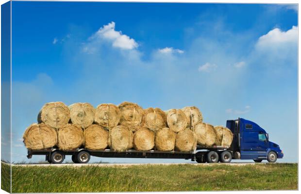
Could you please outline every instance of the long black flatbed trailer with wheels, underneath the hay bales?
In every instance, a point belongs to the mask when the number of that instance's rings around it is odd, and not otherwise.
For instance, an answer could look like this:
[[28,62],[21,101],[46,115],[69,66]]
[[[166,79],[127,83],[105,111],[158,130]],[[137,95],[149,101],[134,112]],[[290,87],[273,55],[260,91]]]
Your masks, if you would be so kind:
[[197,162],[206,162],[208,159],[205,157],[208,153],[210,159],[208,162],[218,162],[218,155],[221,152],[227,152],[228,159],[224,162],[230,162],[233,158],[233,152],[228,150],[227,146],[212,146],[202,147],[197,146],[195,151],[181,152],[181,151],[137,151],[134,149],[126,150],[124,152],[115,152],[111,149],[104,150],[90,150],[84,148],[78,148],[75,150],[61,151],[58,148],[50,148],[43,150],[28,150],[27,158],[31,159],[33,155],[45,155],[46,161],[50,163],[61,163],[67,155],[71,155],[71,159],[74,163],[87,163],[90,160],[90,156],[101,158],[149,158],[149,159],[191,159]]

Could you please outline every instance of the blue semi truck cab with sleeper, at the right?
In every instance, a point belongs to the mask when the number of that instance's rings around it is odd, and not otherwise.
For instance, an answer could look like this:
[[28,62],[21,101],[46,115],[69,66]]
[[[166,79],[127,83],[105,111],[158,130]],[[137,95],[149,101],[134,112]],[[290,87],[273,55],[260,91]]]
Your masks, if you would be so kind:
[[279,145],[269,141],[268,133],[258,124],[238,118],[228,120],[227,128],[233,133],[233,142],[229,149],[233,152],[234,159],[275,162],[283,158],[284,154]]

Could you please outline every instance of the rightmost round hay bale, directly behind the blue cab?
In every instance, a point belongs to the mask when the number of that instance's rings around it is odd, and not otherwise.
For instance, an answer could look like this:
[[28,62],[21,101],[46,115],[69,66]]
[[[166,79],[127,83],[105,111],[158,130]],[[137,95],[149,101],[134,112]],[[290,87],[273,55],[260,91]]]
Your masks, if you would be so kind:
[[215,126],[214,129],[217,134],[215,144],[221,146],[230,146],[233,140],[233,134],[231,130],[221,125]]

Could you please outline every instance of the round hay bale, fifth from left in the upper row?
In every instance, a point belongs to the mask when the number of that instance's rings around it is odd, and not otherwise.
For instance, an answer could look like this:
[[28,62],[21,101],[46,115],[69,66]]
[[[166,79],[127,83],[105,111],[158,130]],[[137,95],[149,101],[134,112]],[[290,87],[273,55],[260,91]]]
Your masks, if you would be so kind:
[[160,108],[147,108],[143,112],[142,123],[152,131],[158,131],[167,127],[166,113]]

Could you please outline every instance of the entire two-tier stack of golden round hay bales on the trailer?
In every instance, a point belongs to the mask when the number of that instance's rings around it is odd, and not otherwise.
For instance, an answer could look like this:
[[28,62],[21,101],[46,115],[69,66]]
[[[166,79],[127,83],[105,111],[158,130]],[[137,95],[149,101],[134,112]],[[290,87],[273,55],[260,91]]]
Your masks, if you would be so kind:
[[196,145],[230,146],[233,134],[223,126],[203,123],[196,106],[162,111],[160,108],[143,109],[123,102],[119,106],[89,103],[66,106],[62,102],[45,104],[23,135],[26,148],[31,150],[58,147],[74,150],[110,148],[116,152],[128,149],[138,151],[196,150]]

